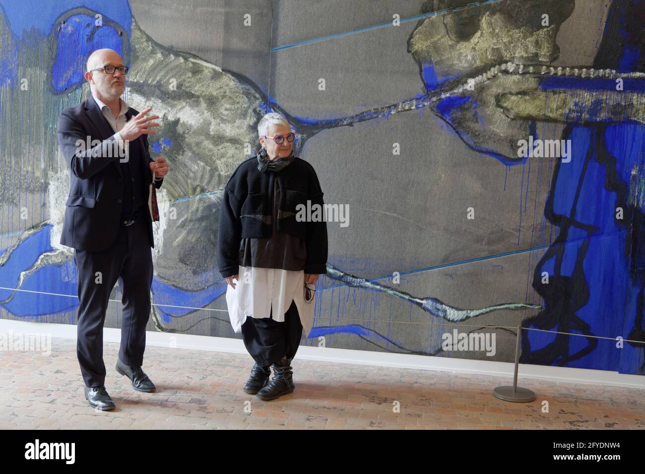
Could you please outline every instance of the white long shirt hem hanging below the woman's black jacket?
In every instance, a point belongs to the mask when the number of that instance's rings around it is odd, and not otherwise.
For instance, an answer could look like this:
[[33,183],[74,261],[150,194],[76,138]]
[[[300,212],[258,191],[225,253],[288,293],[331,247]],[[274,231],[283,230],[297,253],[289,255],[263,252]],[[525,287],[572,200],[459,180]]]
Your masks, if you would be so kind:
[[273,308],[273,319],[284,322],[284,313],[295,302],[303,324],[305,337],[313,326],[315,298],[304,298],[304,271],[293,272],[281,268],[239,266],[239,281],[235,288],[226,288],[228,317],[236,333],[242,331],[247,317],[268,318]]

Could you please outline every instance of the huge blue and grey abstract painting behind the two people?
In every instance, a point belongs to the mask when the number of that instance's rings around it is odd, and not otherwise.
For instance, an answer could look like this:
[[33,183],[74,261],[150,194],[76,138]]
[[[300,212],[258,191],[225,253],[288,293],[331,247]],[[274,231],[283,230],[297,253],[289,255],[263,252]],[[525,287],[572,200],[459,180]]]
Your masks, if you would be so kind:
[[522,326],[522,363],[645,374],[643,25],[640,0],[0,0],[0,317],[75,324],[55,123],[112,48],[170,164],[148,330],[239,337],[221,193],[275,111],[348,210],[302,344],[510,361]]

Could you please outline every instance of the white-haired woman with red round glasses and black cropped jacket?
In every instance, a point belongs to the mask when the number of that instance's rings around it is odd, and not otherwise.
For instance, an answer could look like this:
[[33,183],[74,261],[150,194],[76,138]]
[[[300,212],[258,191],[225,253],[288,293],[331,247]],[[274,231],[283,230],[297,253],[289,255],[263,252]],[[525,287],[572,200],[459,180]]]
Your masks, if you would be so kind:
[[299,213],[308,201],[323,210],[323,191],[312,165],[293,155],[288,121],[266,114],[257,132],[260,151],[224,188],[217,266],[228,282],[233,330],[255,360],[244,391],[273,400],[295,388],[291,361],[303,328],[305,335],[312,329],[313,287],[327,272],[327,225]]

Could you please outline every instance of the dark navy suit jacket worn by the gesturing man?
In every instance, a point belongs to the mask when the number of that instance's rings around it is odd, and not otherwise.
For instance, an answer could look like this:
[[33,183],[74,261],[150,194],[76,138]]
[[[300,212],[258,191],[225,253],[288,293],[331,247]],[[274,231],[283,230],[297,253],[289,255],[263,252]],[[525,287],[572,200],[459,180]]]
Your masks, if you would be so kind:
[[[126,119],[139,114],[134,108],[126,112]],[[70,195],[63,221],[61,244],[77,250],[97,252],[108,248],[116,238],[121,222],[124,184],[119,156],[110,148],[116,148],[114,130],[105,119],[99,105],[90,95],[86,101],[61,112],[57,123],[58,144],[70,166]],[[88,147],[79,156],[76,155],[78,144],[102,142],[101,146]],[[146,177],[146,186],[142,190],[144,219],[148,221],[150,246],[154,248],[152,237],[152,218],[148,212],[148,194],[152,184],[150,162],[154,161],[148,151],[148,137],[141,135],[130,142],[128,153],[130,164],[139,164],[141,173]],[[161,188],[163,179],[155,180],[155,188]]]

